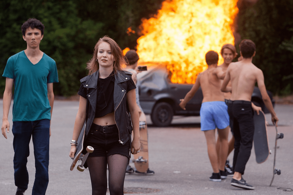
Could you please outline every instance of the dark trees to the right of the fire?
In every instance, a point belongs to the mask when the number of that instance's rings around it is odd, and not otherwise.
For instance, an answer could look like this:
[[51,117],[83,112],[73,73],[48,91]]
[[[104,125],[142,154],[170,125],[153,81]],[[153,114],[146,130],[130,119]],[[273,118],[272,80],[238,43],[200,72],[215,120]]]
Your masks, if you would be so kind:
[[256,44],[253,63],[265,76],[268,90],[293,92],[293,1],[258,0],[239,12],[239,34]]

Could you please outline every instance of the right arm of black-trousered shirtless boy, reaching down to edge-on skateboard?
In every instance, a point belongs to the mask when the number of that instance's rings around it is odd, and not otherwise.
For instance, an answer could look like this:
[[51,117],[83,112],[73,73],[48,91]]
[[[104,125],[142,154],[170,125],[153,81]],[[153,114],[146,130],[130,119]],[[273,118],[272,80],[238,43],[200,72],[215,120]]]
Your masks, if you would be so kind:
[[265,88],[265,82],[264,82],[264,77],[263,77],[263,71],[258,70],[258,73],[256,73],[256,81],[258,84],[258,88],[260,90],[260,94],[263,98],[263,103],[265,103],[265,106],[268,108],[272,115],[272,123],[276,126],[278,126],[278,117],[275,113],[274,107],[272,105],[270,96],[268,95],[268,92]]

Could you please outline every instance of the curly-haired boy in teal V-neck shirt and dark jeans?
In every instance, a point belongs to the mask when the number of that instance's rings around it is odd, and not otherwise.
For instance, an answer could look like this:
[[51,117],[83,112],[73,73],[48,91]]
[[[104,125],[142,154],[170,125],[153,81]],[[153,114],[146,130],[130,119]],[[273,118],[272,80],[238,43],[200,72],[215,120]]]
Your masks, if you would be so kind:
[[58,82],[55,61],[40,50],[44,25],[37,19],[28,19],[21,26],[27,49],[11,56],[4,69],[6,77],[3,94],[2,134],[7,139],[10,124],[8,113],[13,96],[13,149],[16,195],[28,188],[29,143],[33,137],[35,154],[35,182],[32,194],[45,194],[49,182],[49,137],[53,109],[53,83]]

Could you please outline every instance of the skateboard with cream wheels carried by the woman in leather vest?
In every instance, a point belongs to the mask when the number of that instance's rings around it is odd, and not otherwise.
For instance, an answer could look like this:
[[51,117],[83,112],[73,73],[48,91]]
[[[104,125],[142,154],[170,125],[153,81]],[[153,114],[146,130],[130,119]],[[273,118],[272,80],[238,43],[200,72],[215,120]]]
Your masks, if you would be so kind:
[[76,167],[77,170],[84,171],[84,163],[86,163],[86,159],[88,158],[89,153],[92,153],[94,150],[93,147],[87,146],[86,147],[87,153],[86,154],[82,153],[84,149],[85,128],[86,128],[86,124],[84,124],[84,127],[82,127],[78,140],[77,140],[76,152],[74,154],[73,162],[70,166],[71,171],[74,169],[77,161],[81,161],[81,164]]

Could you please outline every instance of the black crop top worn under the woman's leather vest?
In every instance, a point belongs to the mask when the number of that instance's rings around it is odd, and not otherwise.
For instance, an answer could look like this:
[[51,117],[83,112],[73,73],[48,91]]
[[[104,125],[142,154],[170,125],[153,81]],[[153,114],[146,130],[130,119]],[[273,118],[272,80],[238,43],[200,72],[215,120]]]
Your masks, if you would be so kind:
[[[97,105],[96,105],[96,113],[95,118],[105,116],[114,111],[114,82],[115,75],[114,71],[105,79],[98,79],[97,87]],[[130,77],[130,80],[127,82],[126,93],[132,89],[135,89],[136,86]],[[84,88],[83,84],[81,84],[78,94],[84,98],[87,98],[86,88]]]

